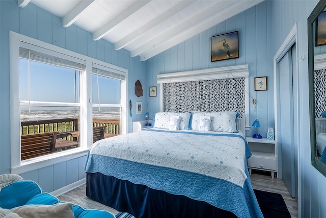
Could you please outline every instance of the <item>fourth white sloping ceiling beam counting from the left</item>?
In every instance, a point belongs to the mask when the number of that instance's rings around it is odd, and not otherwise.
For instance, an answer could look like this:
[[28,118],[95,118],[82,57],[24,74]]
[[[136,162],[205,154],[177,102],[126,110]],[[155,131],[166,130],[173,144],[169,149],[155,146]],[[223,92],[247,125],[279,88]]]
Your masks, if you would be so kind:
[[166,12],[158,15],[155,19],[153,19],[153,20],[149,21],[148,23],[146,23],[143,27],[133,31],[132,33],[130,33],[129,35],[127,35],[123,39],[116,42],[114,44],[114,49],[115,50],[122,49],[124,46],[132,43],[134,40],[136,40],[139,37],[141,37],[142,35],[144,35],[147,31],[154,28],[156,25],[159,25],[159,23],[161,23],[161,22],[165,21],[166,19],[172,17],[173,15],[175,15],[178,12],[182,11],[183,9],[188,7],[189,5],[192,5],[196,1],[197,0],[194,0],[194,1],[183,0],[183,1],[181,1],[177,5],[173,6],[169,10],[167,10]]

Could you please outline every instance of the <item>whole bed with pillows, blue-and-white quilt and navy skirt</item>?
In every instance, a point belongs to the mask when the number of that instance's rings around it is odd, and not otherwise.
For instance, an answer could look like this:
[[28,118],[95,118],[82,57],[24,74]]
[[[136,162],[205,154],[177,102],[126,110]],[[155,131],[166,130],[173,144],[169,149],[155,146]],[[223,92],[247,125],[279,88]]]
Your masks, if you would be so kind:
[[86,195],[141,217],[263,217],[237,113],[161,112],[153,128],[95,142]]

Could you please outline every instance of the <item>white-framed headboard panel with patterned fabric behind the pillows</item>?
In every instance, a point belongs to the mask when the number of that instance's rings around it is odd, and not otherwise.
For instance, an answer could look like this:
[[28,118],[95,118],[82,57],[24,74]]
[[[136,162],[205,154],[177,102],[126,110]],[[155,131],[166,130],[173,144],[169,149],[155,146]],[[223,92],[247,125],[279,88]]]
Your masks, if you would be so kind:
[[[246,134],[248,77],[248,64],[159,74],[161,111],[237,111],[240,114],[238,129]],[[241,117],[247,119],[243,122]]]

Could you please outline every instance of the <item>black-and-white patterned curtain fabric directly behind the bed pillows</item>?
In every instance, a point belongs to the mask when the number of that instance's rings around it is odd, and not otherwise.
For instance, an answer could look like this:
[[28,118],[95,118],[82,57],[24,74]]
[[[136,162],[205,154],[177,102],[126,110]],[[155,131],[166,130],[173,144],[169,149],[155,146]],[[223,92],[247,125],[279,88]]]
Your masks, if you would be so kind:
[[244,114],[244,78],[163,84],[164,111],[237,111]]

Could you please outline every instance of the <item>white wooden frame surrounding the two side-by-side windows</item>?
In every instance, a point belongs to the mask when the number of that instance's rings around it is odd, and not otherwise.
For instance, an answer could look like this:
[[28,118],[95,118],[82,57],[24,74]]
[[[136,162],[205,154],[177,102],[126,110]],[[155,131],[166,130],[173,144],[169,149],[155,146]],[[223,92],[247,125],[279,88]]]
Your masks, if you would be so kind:
[[[58,47],[40,40],[24,36],[19,33],[10,31],[10,143],[11,143],[11,173],[21,174],[45,166],[53,165],[63,161],[71,160],[74,158],[87,155],[88,150],[92,144],[92,131],[93,127],[92,117],[92,66],[99,64],[108,68],[116,70],[119,74],[125,77],[121,82],[121,134],[126,134],[128,129],[127,122],[127,80],[128,70],[122,67],[108,64],[106,62],[81,55],[62,47]],[[71,106],[80,107],[80,147],[70,149],[63,152],[44,155],[29,160],[20,160],[20,100],[19,100],[19,47],[21,42],[43,47],[43,52],[49,51],[71,56],[80,60],[86,61],[86,70],[80,71],[80,84],[79,84],[79,103],[72,104]],[[51,52],[52,51],[52,52]],[[57,105],[56,105],[57,106]]]

